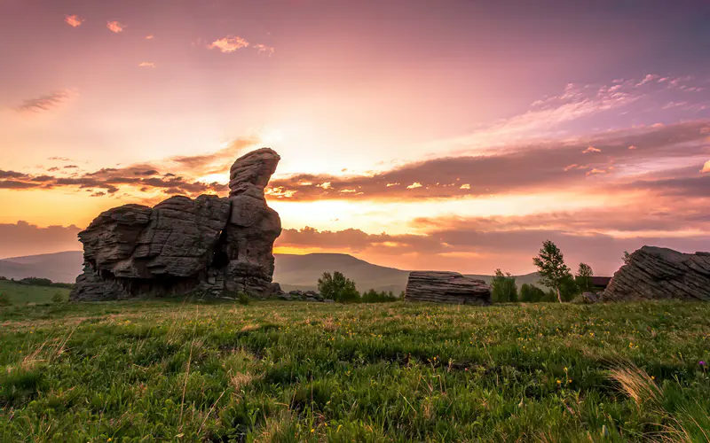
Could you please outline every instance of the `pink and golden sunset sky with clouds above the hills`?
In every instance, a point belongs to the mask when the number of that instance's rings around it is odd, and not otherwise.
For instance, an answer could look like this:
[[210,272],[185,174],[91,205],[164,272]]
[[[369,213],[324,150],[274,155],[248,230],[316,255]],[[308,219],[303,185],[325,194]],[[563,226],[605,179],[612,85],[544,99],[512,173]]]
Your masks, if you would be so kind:
[[546,239],[710,250],[710,2],[0,1],[0,258],[227,196],[280,153],[276,253],[534,270]]

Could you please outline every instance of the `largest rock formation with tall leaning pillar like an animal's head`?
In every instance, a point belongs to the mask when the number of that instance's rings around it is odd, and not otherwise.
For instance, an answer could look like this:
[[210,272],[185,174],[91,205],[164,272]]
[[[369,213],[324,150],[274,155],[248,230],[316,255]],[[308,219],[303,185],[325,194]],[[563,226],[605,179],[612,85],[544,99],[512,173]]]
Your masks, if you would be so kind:
[[272,293],[279,214],[264,187],[279,155],[263,148],[237,159],[230,197],[172,197],[153,208],[124,205],[81,233],[84,271],[73,300],[129,299],[201,291]]

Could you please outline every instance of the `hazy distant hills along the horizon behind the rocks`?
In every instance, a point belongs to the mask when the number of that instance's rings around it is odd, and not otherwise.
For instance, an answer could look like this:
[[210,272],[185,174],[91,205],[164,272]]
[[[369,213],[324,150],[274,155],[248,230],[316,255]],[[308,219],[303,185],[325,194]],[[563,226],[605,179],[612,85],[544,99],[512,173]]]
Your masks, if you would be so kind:
[[[305,255],[274,254],[276,270],[273,281],[279,282],[281,289],[302,291],[316,289],[319,276],[324,272],[340,271],[354,280],[359,291],[375,289],[377,291],[393,291],[398,294],[404,291],[409,271],[374,265],[365,260],[359,260],[345,253],[309,253]],[[83,253],[67,251],[65,253],[46,253],[13,257],[0,260],[0,276],[7,278],[25,278],[30,276],[49,278],[52,282],[74,283],[76,276],[82,273]],[[473,278],[485,280],[490,284],[493,276],[467,274]],[[536,273],[517,276],[518,287],[521,284],[538,284]],[[539,284],[538,284],[539,285]]]

